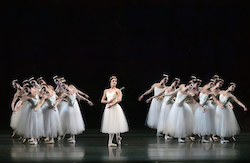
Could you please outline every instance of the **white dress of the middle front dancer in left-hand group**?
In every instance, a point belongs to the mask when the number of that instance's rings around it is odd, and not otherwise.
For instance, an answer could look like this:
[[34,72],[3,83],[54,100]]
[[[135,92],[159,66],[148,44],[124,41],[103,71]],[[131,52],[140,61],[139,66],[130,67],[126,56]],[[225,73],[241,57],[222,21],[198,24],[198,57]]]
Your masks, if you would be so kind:
[[62,126],[60,115],[57,108],[53,108],[56,102],[56,95],[46,99],[45,107],[43,108],[44,132],[46,137],[56,138],[62,135]]

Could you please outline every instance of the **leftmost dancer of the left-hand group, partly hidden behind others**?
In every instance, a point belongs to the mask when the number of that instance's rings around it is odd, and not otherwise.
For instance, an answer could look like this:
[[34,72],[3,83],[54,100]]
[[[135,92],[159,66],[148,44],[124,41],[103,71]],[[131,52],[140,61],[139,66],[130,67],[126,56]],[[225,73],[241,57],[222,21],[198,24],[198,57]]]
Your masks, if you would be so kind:
[[14,137],[16,134],[16,127],[19,122],[19,118],[21,115],[21,110],[20,110],[20,105],[21,105],[21,99],[25,95],[25,91],[23,87],[21,87],[18,83],[17,80],[12,81],[12,86],[13,88],[16,89],[16,93],[14,95],[14,98],[11,102],[11,109],[12,109],[12,115],[10,118],[10,127],[13,130],[13,133],[11,137]]

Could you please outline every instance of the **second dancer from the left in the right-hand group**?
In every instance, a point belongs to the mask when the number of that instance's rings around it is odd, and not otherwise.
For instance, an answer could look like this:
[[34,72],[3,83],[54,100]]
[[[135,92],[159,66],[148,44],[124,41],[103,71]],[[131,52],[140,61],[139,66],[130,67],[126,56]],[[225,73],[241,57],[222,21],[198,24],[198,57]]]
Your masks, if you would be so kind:
[[[169,87],[166,87],[163,92],[156,96],[152,96],[149,99],[146,100],[147,103],[149,103],[153,98],[163,98],[162,106],[161,106],[161,111],[160,111],[160,116],[159,116],[159,122],[157,126],[157,133],[162,133],[165,131],[166,128],[166,122],[167,122],[167,117],[169,114],[169,111],[174,103],[173,98],[176,96],[176,87],[180,83],[180,79],[175,78],[172,82],[172,84]],[[171,95],[166,95],[168,93],[175,92]],[[164,93],[164,95],[163,95]],[[163,96],[162,96],[163,95]],[[168,136],[168,133],[165,133],[165,139],[171,139],[172,137]]]

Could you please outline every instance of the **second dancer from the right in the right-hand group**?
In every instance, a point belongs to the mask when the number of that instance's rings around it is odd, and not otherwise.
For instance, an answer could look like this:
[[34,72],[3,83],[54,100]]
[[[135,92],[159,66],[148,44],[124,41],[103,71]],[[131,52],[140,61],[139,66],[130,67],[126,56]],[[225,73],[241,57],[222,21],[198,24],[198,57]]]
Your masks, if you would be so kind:
[[198,107],[194,113],[194,129],[193,134],[201,135],[202,143],[208,143],[209,141],[205,139],[206,135],[211,136],[214,134],[214,114],[213,105],[209,102],[209,97],[211,96],[218,105],[223,107],[223,105],[216,99],[216,97],[211,93],[210,88],[214,85],[214,80],[211,80],[206,84],[200,91],[199,99],[200,104],[205,108]]

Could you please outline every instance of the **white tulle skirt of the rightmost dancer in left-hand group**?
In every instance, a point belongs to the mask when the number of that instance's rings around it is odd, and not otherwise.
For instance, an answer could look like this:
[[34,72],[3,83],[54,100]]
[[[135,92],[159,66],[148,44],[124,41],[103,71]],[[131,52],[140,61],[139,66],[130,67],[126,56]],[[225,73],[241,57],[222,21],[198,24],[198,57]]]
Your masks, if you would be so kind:
[[63,134],[77,135],[85,131],[85,124],[77,100],[74,105],[65,103],[60,113]]

